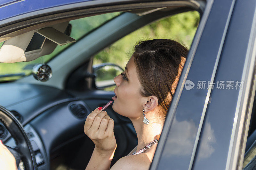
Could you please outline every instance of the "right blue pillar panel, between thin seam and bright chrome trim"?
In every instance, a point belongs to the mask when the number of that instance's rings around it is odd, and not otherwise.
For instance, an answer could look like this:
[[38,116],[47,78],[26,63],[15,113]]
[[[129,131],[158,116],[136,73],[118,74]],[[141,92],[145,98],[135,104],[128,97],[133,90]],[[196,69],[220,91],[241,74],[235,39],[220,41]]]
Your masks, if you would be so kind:
[[[252,39],[255,39],[255,35],[252,34],[255,30],[255,7],[255,1],[246,1],[246,3],[242,0],[236,1],[216,71],[215,85],[218,80],[231,80],[234,84],[236,81],[244,81],[243,86],[245,85],[243,70],[251,63],[246,58],[248,58],[250,49],[253,48]],[[255,54],[250,57],[255,58]],[[235,117],[238,119],[237,122],[241,117],[243,118],[240,113],[238,114],[239,101],[241,101],[239,94],[242,89],[213,88],[211,102],[208,103],[206,110],[200,144],[197,148],[195,169],[213,170],[228,167],[226,162],[231,159],[231,155],[235,155],[229,151],[232,149],[232,140],[234,140],[232,133],[234,133],[233,126],[236,126]],[[205,150],[206,146],[211,146],[208,151]]]

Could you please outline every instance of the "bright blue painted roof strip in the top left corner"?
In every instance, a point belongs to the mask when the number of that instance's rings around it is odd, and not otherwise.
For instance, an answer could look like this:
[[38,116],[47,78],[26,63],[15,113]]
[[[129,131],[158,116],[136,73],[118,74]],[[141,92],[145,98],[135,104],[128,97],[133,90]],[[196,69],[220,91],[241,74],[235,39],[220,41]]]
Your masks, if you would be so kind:
[[96,0],[1,0],[0,21],[25,13]]

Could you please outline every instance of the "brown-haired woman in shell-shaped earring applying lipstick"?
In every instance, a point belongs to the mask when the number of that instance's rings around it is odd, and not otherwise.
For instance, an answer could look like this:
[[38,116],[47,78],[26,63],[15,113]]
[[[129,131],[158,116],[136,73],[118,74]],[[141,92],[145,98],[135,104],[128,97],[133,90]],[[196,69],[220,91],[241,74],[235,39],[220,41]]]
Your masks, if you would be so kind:
[[[125,71],[114,78],[113,110],[130,118],[138,145],[111,170],[149,169],[187,53],[186,47],[173,40],[141,41],[135,46]],[[87,116],[84,133],[95,148],[86,170],[110,168],[117,146],[113,129],[114,121],[102,107]],[[1,147],[4,146],[0,144]],[[1,154],[0,166],[6,162],[1,162]],[[14,158],[8,159],[13,162]]]

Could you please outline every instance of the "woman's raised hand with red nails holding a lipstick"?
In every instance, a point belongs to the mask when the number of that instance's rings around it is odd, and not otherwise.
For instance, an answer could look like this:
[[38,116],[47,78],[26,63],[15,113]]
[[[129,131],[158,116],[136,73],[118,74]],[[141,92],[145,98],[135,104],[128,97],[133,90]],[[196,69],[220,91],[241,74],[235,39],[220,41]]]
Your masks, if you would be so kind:
[[87,116],[84,133],[92,139],[95,148],[101,151],[113,152],[116,150],[114,120],[108,116],[107,112],[102,111],[102,107],[98,108]]

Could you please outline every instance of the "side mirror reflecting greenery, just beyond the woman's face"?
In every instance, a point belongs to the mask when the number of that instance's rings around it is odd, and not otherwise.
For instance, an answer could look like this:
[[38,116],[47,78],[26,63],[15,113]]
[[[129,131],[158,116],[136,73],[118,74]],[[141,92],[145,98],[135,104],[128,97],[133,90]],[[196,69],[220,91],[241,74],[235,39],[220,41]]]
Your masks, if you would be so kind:
[[123,72],[120,66],[113,63],[102,63],[93,66],[93,74],[95,77],[95,86],[103,89],[115,85],[114,78]]

